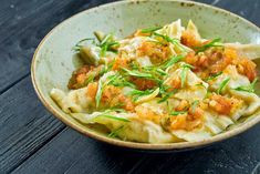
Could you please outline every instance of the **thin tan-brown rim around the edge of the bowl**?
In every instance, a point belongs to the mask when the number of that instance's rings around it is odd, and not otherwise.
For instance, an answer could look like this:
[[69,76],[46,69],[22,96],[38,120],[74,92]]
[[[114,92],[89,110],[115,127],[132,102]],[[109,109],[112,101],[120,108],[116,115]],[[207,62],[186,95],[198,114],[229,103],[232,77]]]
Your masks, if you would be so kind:
[[[139,3],[145,3],[147,1],[143,0],[143,1],[138,1],[138,2]],[[162,2],[162,0],[153,0],[153,2],[154,1]],[[243,18],[241,18],[241,17],[235,14],[235,13],[231,13],[231,12],[229,12],[227,10],[223,10],[223,9],[219,9],[219,8],[216,8],[216,7],[211,7],[211,6],[199,3],[199,2],[193,2],[193,1],[183,1],[183,0],[163,0],[163,1],[175,1],[175,2],[183,3],[185,6],[199,6],[201,8],[209,8],[209,9],[212,9],[215,11],[219,11],[219,12],[229,14],[232,18],[239,18],[239,20],[242,20],[248,25],[251,25],[251,28],[254,28],[254,29],[257,29],[260,32],[260,29],[256,24],[249,22],[248,20],[246,20],[246,19],[243,19]],[[92,8],[92,9],[89,9],[89,10],[84,10],[82,12],[79,12],[79,13],[72,16],[71,18],[64,20],[63,22],[67,22],[67,21],[72,20],[73,18],[75,18],[76,16],[80,16],[80,14],[85,13],[85,12],[91,12],[91,11],[94,11],[96,9],[100,9],[100,8],[106,8],[106,7],[111,7],[111,6],[119,6],[122,3],[136,3],[136,2],[137,1],[118,1],[118,2],[113,2],[113,3],[106,3],[106,4],[103,4],[103,6],[98,6],[98,7],[95,7],[95,8]],[[51,113],[53,113],[55,117],[61,120],[63,123],[65,123],[70,127],[79,131],[80,133],[82,133],[84,135],[87,135],[89,137],[92,137],[92,139],[95,139],[95,140],[98,140],[98,141],[112,144],[112,145],[121,146],[121,147],[137,149],[137,150],[188,150],[188,149],[196,149],[196,147],[200,147],[200,146],[206,146],[206,145],[209,145],[209,144],[212,144],[212,143],[216,143],[216,142],[220,142],[220,141],[223,141],[226,139],[232,137],[235,135],[238,135],[238,134],[245,132],[246,130],[252,127],[253,125],[256,125],[257,123],[260,122],[260,116],[256,116],[252,120],[249,120],[247,123],[245,123],[245,124],[242,124],[242,125],[240,125],[238,127],[235,127],[233,130],[230,130],[230,131],[225,132],[225,133],[220,133],[220,134],[215,135],[215,136],[212,136],[212,137],[210,137],[208,140],[198,141],[198,142],[180,142],[180,143],[164,143],[164,144],[148,144],[148,143],[126,142],[126,141],[121,141],[121,140],[116,140],[116,139],[111,139],[111,137],[104,136],[104,135],[98,134],[98,133],[96,133],[94,131],[87,131],[87,130],[82,129],[80,125],[76,125],[75,123],[70,122],[69,120],[65,120],[62,116],[62,114],[60,114],[53,105],[48,103],[45,96],[40,91],[39,84],[38,84],[37,79],[35,79],[35,73],[37,73],[35,68],[37,68],[37,58],[38,58],[37,55],[38,55],[38,52],[41,49],[42,44],[45,42],[45,40],[49,38],[49,35],[53,32],[53,30],[55,30],[63,22],[61,22],[55,28],[53,28],[43,38],[43,40],[38,45],[35,52],[33,54],[33,59],[32,59],[32,63],[31,63],[31,79],[32,79],[33,88],[34,88],[39,99],[43,103],[43,105]]]

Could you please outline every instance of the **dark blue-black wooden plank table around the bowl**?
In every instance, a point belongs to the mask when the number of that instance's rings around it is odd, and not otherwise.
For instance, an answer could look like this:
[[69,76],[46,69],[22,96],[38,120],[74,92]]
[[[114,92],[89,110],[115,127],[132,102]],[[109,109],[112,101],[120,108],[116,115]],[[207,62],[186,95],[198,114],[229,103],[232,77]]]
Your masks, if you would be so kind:
[[[200,0],[260,25],[260,0]],[[260,173],[260,124],[228,141],[183,153],[118,150],[65,126],[38,100],[32,54],[72,14],[107,0],[0,1],[0,173]]]

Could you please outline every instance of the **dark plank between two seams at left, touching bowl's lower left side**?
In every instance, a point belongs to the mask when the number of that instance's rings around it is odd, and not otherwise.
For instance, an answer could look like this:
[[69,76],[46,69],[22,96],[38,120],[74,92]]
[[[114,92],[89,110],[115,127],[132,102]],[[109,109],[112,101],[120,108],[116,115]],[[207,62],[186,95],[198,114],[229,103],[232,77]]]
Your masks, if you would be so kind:
[[12,171],[64,125],[37,99],[30,76],[0,95],[0,173]]

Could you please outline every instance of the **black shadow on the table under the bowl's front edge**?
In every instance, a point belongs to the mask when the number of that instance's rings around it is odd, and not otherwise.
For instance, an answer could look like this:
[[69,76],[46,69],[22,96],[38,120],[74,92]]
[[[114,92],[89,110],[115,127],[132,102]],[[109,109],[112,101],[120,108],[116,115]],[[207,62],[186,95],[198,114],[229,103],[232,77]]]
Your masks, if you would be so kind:
[[[186,152],[145,152],[96,143],[116,163],[129,163],[133,173],[251,173],[259,163],[259,126],[230,140]],[[258,142],[256,142],[258,141]],[[257,143],[257,144],[256,144]],[[122,172],[122,171],[121,171]],[[123,170],[125,172],[125,168]]]

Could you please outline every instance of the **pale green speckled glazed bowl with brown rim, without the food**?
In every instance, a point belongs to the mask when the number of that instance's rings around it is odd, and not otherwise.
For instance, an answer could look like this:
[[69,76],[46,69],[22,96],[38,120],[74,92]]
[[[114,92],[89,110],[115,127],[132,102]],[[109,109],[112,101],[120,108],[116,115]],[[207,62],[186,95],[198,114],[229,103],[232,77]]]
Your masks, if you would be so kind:
[[79,66],[72,47],[81,39],[93,35],[93,31],[114,32],[121,38],[139,28],[163,25],[177,19],[186,25],[189,19],[196,23],[205,38],[223,38],[225,42],[260,43],[260,29],[228,11],[190,1],[119,1],[96,7],[63,21],[39,44],[32,60],[32,82],[45,108],[59,120],[90,137],[113,145],[138,150],[188,150],[235,136],[260,122],[253,116],[231,130],[200,142],[147,144],[111,139],[98,127],[81,124],[65,114],[50,98],[52,88],[67,91],[66,83]]

